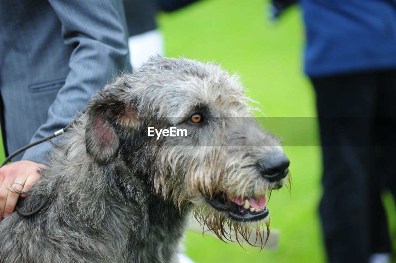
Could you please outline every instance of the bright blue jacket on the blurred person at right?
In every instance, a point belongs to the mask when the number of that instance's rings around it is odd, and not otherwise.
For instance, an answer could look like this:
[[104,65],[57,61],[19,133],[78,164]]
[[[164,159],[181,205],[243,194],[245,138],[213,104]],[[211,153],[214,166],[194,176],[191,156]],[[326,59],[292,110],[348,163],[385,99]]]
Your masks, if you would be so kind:
[[396,68],[396,0],[300,0],[305,72],[321,77]]

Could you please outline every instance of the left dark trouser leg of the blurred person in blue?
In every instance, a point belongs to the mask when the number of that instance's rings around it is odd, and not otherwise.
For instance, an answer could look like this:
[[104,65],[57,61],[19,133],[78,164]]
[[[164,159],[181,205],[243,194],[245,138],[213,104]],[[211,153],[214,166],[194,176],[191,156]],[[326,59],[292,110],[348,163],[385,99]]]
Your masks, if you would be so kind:
[[[374,116],[377,73],[312,79],[316,90],[324,163],[320,217],[331,262],[367,262],[370,214],[387,235],[375,171]],[[372,196],[373,195],[373,196]],[[385,222],[385,223],[384,223]]]

